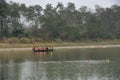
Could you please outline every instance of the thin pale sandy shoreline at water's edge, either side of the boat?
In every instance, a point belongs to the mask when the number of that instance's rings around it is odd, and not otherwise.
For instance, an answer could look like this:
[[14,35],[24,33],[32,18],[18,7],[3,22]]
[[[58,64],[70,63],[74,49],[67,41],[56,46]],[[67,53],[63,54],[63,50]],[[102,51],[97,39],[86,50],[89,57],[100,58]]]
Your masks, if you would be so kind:
[[[55,50],[57,49],[90,49],[90,48],[119,48],[120,45],[88,45],[88,46],[59,46],[54,47]],[[32,47],[26,47],[26,48],[0,48],[0,51],[24,51],[24,50],[32,50]]]

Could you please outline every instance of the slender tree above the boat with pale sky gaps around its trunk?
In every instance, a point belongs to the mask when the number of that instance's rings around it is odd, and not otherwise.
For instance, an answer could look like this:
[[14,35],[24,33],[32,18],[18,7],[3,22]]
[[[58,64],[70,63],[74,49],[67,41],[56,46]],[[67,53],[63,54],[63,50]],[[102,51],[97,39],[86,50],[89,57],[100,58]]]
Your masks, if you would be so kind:
[[40,28],[41,21],[40,18],[42,16],[42,7],[39,5],[30,6],[27,10],[27,20],[30,22],[30,35],[40,37]]

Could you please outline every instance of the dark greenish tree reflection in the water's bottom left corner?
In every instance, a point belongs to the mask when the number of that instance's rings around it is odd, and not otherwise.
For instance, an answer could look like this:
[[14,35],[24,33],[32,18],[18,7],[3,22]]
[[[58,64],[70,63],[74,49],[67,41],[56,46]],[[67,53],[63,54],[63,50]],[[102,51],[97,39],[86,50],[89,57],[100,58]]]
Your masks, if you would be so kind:
[[[2,61],[2,60],[0,60]],[[0,80],[18,80],[19,68],[12,59],[6,64],[4,61],[0,64]]]

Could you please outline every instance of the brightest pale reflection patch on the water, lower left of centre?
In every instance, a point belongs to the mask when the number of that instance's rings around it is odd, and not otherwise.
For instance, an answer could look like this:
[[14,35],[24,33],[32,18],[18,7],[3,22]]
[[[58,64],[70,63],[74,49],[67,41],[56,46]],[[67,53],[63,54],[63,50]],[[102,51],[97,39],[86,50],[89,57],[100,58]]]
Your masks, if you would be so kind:
[[45,78],[45,65],[39,62],[30,62],[26,60],[19,65],[19,70],[18,80],[41,80]]

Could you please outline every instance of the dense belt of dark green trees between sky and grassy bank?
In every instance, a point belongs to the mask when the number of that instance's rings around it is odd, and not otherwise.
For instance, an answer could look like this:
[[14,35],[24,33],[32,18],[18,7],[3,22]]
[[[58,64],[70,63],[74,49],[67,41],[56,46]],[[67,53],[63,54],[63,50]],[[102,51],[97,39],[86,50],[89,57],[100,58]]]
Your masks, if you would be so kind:
[[25,4],[0,0],[0,39],[17,37],[42,40],[79,41],[120,38],[120,6],[111,8],[86,6],[65,7],[58,3],[27,7]]

